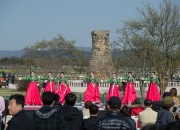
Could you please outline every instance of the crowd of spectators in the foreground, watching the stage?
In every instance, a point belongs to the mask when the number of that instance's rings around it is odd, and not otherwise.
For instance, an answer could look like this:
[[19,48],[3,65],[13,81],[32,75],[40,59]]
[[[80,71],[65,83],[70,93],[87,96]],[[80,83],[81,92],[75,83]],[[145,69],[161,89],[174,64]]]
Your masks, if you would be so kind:
[[[82,111],[78,110],[74,93],[68,93],[62,105],[58,94],[47,91],[41,97],[42,107],[28,114],[23,109],[24,96],[14,94],[9,98],[8,111],[13,117],[7,123],[6,130],[136,130],[138,127],[141,130],[179,130],[180,121],[174,114],[177,108],[171,91],[166,93],[158,110],[153,109],[154,102],[145,99],[144,109],[136,113],[137,122],[133,119],[134,106],[123,105],[116,96],[110,97],[102,114],[97,104],[91,101],[85,103]],[[0,103],[2,118],[5,109],[2,97]]]

